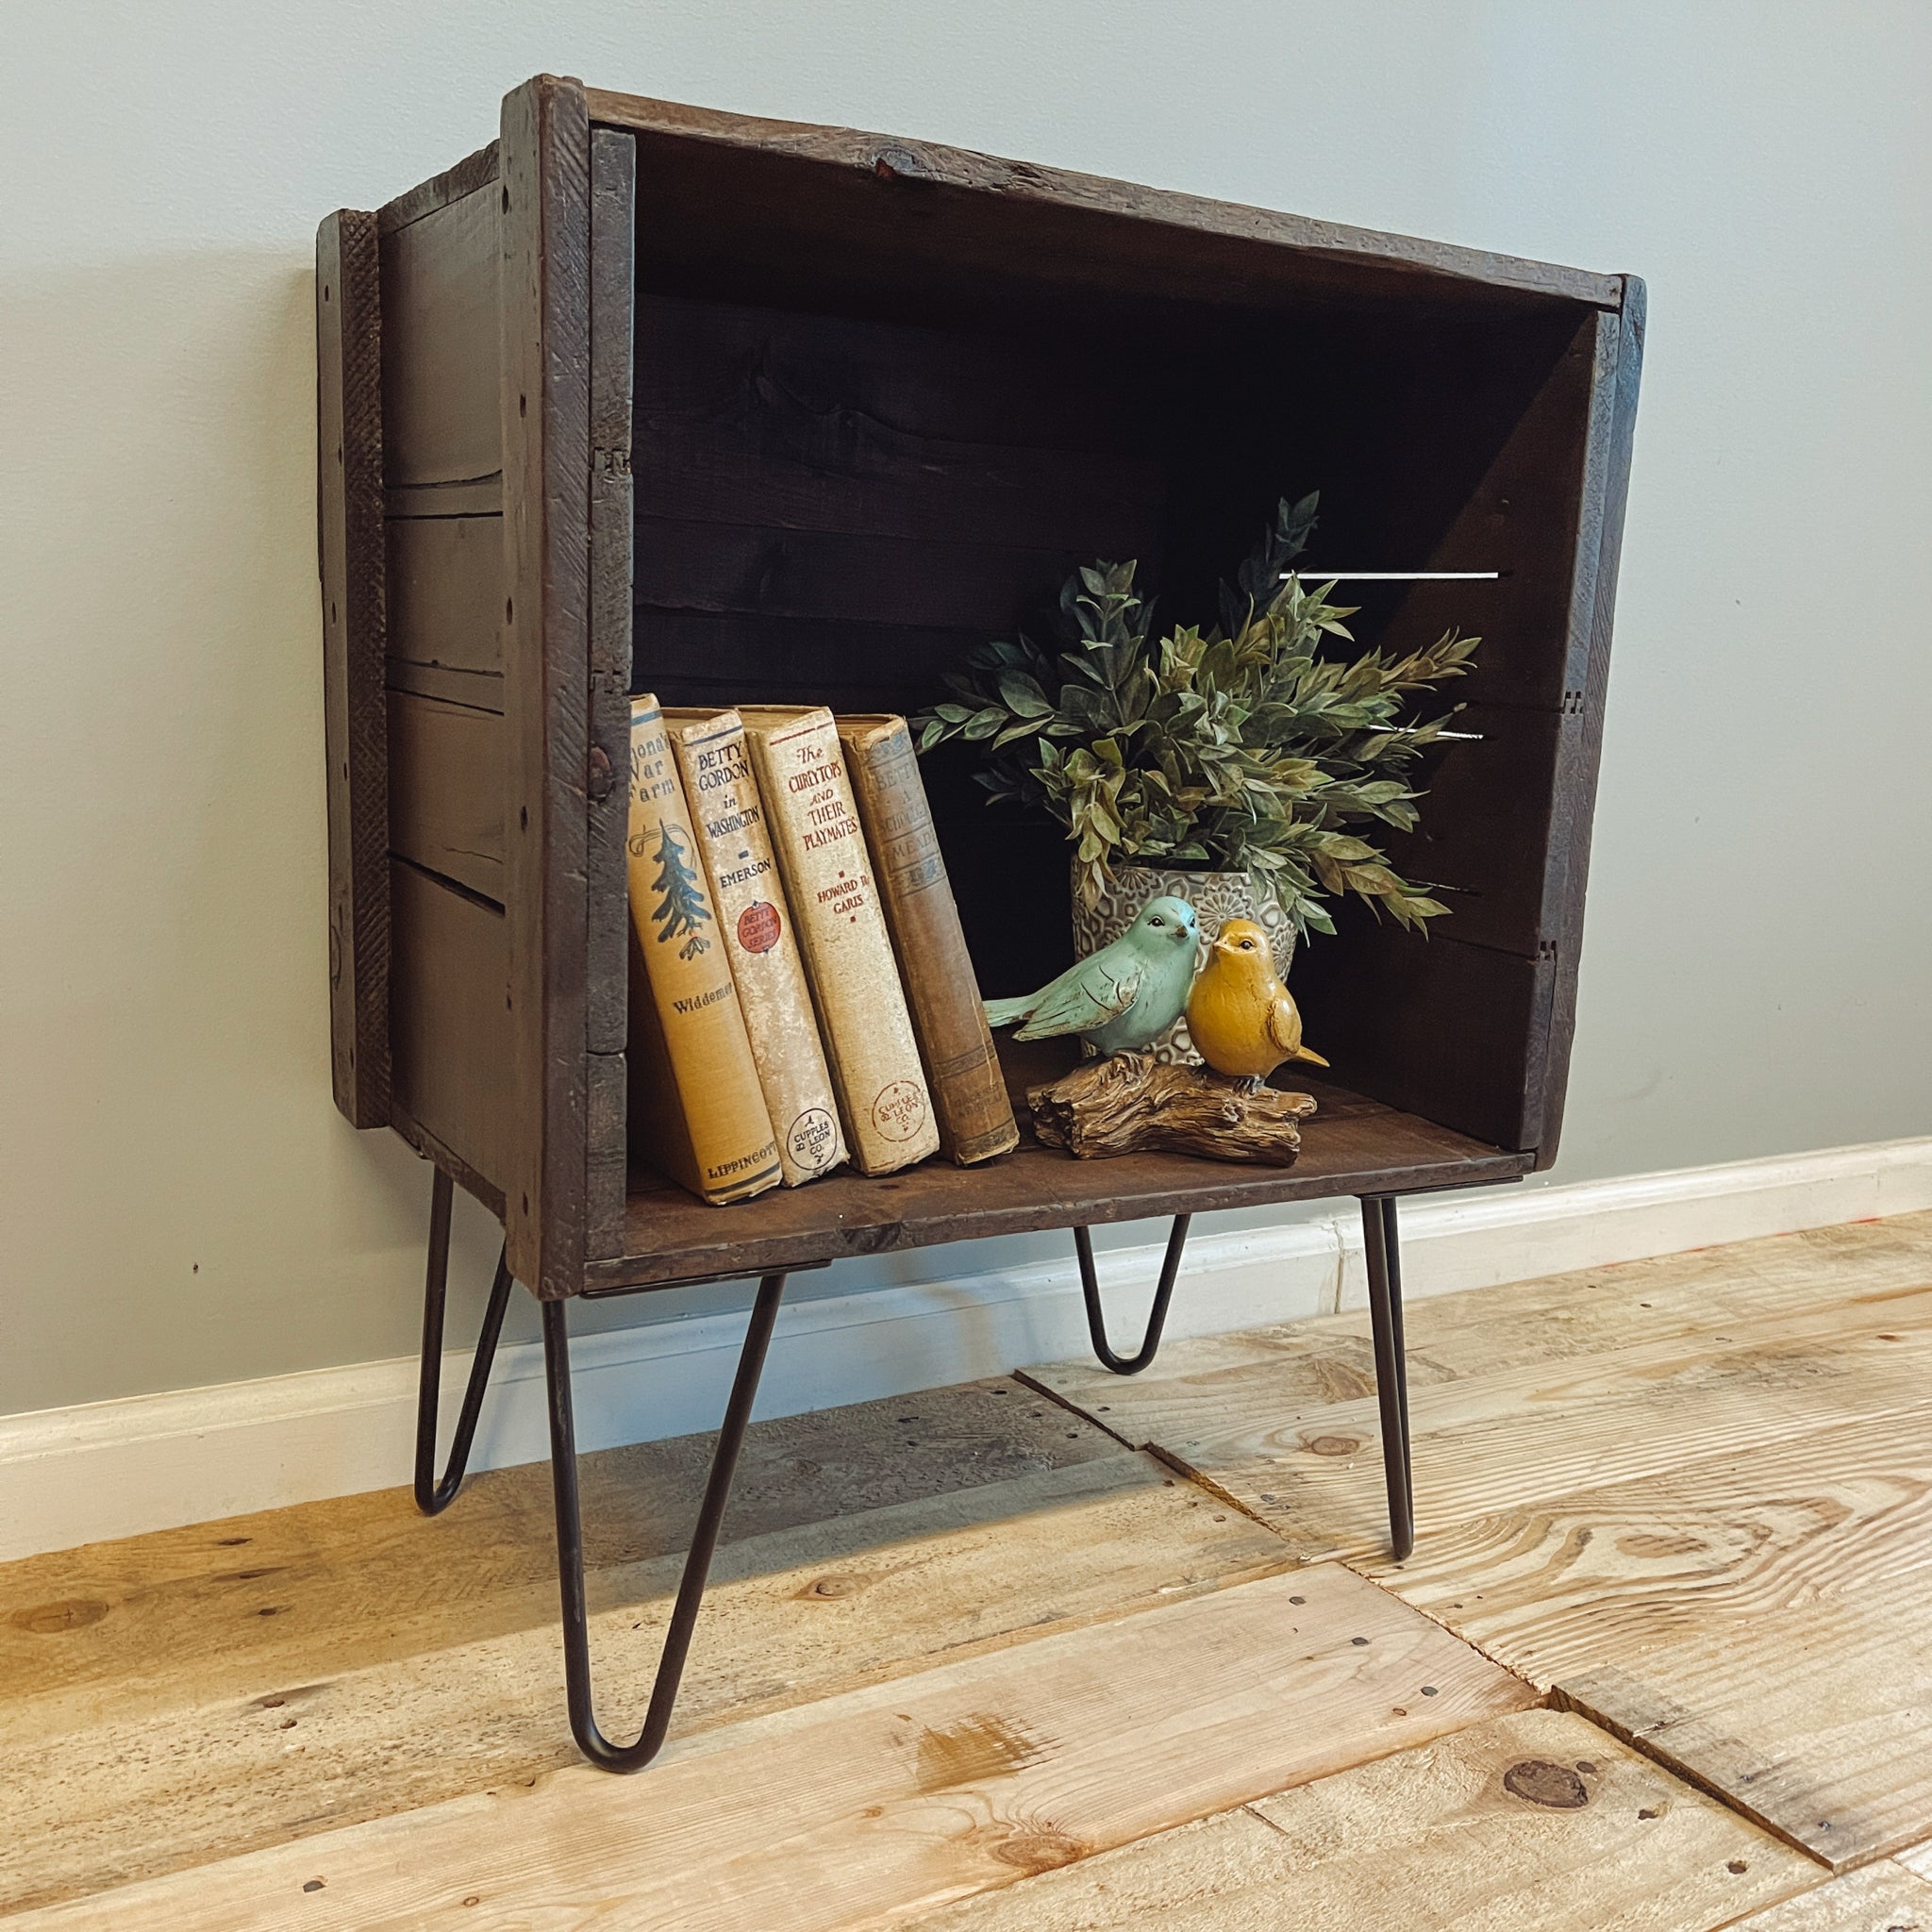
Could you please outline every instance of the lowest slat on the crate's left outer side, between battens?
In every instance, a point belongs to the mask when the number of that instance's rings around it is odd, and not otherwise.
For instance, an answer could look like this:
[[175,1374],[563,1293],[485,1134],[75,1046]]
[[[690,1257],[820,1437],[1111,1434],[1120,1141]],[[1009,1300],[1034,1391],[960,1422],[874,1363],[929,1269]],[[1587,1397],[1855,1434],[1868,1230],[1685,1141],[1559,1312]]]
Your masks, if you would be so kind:
[[396,1107],[495,1186],[512,1153],[502,910],[400,860],[390,879]]

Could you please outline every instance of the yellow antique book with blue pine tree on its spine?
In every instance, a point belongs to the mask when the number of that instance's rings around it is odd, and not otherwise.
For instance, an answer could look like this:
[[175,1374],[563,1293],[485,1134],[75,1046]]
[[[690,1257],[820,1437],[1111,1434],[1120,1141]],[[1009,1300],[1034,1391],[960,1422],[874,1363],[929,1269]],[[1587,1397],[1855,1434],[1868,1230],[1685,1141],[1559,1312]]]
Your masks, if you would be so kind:
[[707,1202],[775,1188],[765,1092],[655,697],[630,701],[630,1119]]

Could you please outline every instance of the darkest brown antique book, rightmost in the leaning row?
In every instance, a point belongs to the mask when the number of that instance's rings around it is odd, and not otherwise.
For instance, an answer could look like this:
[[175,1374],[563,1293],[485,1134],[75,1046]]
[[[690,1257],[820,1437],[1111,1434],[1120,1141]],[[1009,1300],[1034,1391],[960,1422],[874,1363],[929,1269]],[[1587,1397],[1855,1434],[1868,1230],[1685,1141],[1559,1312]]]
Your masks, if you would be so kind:
[[902,717],[854,715],[838,719],[838,742],[906,983],[939,1151],[960,1167],[1010,1153],[1020,1128],[980,1005],[912,732]]

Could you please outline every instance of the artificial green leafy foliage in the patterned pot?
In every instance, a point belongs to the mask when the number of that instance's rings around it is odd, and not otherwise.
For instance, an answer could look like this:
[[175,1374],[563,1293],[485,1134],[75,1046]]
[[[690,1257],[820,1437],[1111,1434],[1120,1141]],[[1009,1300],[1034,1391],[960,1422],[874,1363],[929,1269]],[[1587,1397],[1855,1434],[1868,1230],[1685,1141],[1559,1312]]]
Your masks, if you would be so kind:
[[1451,630],[1408,657],[1321,655],[1325,639],[1352,641],[1354,607],[1289,570],[1314,524],[1314,495],[1283,500],[1223,583],[1221,624],[1159,641],[1134,564],[1076,572],[1061,593],[1068,647],[976,647],[947,676],[954,696],[914,721],[920,750],[983,744],[989,802],[1045,806],[1090,891],[1122,862],[1248,871],[1298,933],[1331,933],[1323,898],[1343,893],[1422,929],[1447,908],[1364,831],[1414,827],[1410,767],[1453,713],[1414,721],[1406,699],[1461,676],[1480,639]]

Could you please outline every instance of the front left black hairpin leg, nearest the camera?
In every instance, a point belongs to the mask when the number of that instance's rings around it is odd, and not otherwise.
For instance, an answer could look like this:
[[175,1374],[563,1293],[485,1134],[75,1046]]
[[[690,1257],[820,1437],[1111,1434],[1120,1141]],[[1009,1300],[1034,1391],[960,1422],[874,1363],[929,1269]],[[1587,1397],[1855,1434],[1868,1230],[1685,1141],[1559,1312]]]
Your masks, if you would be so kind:
[[570,1731],[578,1748],[591,1764],[607,1772],[641,1772],[657,1756],[670,1729],[670,1708],[678,1700],[678,1681],[684,1677],[684,1658],[692,1648],[692,1627],[711,1575],[711,1553],[717,1549],[724,1505],[730,1499],[730,1480],[738,1468],[746,1424],[752,1420],[752,1401],[757,1397],[757,1378],[765,1368],[765,1349],[771,1325],[779,1320],[779,1296],[784,1275],[765,1275],[757,1285],[752,1321],[738,1356],[738,1378],[724,1405],[724,1426],[711,1455],[711,1478],[705,1499],[697,1507],[697,1526],[692,1530],[692,1549],[678,1580],[678,1600],[670,1607],[670,1629],[657,1662],[651,1702],[645,1708],[643,1729],[632,1745],[612,1745],[597,1729],[591,1700],[589,1613],[583,1600],[583,1520],[578,1513],[578,1435],[570,1412],[570,1327],[564,1302],[543,1304],[543,1368],[551,1385],[551,1482],[556,1488],[556,1580],[564,1596],[564,1685],[570,1696]]

